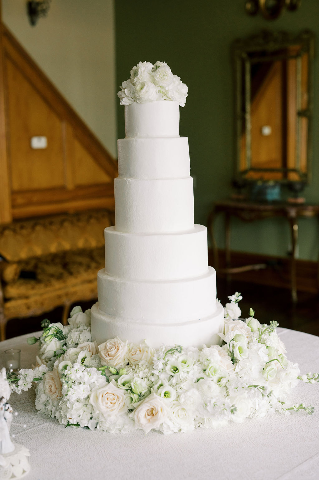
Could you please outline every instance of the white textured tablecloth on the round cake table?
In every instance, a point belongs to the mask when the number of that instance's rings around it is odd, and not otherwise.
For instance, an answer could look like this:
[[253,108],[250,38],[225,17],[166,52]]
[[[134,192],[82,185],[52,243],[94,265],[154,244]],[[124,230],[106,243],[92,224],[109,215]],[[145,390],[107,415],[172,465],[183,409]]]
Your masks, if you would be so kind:
[[[319,372],[319,337],[282,328],[278,333],[302,373]],[[0,355],[20,348],[21,367],[30,367],[37,345],[27,345],[28,336],[1,342]],[[19,412],[11,433],[31,452],[27,480],[319,479],[319,384],[299,382],[292,393],[295,403],[315,406],[311,416],[272,414],[166,436],[65,428],[38,414],[34,399],[34,391],[10,397]]]

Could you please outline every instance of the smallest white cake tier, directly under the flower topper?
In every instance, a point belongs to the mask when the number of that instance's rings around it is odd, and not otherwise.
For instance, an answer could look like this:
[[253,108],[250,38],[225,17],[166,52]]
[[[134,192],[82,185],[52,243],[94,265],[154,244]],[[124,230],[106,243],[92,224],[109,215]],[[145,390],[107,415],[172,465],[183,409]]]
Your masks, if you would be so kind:
[[179,137],[179,104],[170,100],[125,106],[126,138]]

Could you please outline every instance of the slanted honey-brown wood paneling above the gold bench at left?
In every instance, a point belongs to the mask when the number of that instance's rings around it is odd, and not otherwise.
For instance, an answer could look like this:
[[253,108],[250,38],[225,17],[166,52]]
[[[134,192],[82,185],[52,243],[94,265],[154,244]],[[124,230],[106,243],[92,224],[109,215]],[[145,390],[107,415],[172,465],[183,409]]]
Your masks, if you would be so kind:
[[[114,209],[116,161],[4,26],[1,40],[7,148],[0,148],[8,152],[1,156],[8,174],[6,190],[0,189],[0,222]],[[31,148],[33,136],[47,137],[47,148]]]

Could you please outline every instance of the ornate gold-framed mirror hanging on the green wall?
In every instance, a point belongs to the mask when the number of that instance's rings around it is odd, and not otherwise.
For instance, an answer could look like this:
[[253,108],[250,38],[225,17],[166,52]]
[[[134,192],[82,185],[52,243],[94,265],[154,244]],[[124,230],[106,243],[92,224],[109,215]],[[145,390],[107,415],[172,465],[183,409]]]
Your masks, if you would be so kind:
[[309,182],[314,35],[236,39],[236,178]]

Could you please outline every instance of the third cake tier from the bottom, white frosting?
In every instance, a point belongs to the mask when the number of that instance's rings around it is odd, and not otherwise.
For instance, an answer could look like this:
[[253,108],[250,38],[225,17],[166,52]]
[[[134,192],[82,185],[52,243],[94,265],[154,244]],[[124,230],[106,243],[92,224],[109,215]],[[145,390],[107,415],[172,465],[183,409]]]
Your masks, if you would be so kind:
[[140,280],[173,280],[207,272],[207,228],[170,234],[118,232],[105,229],[108,275]]

